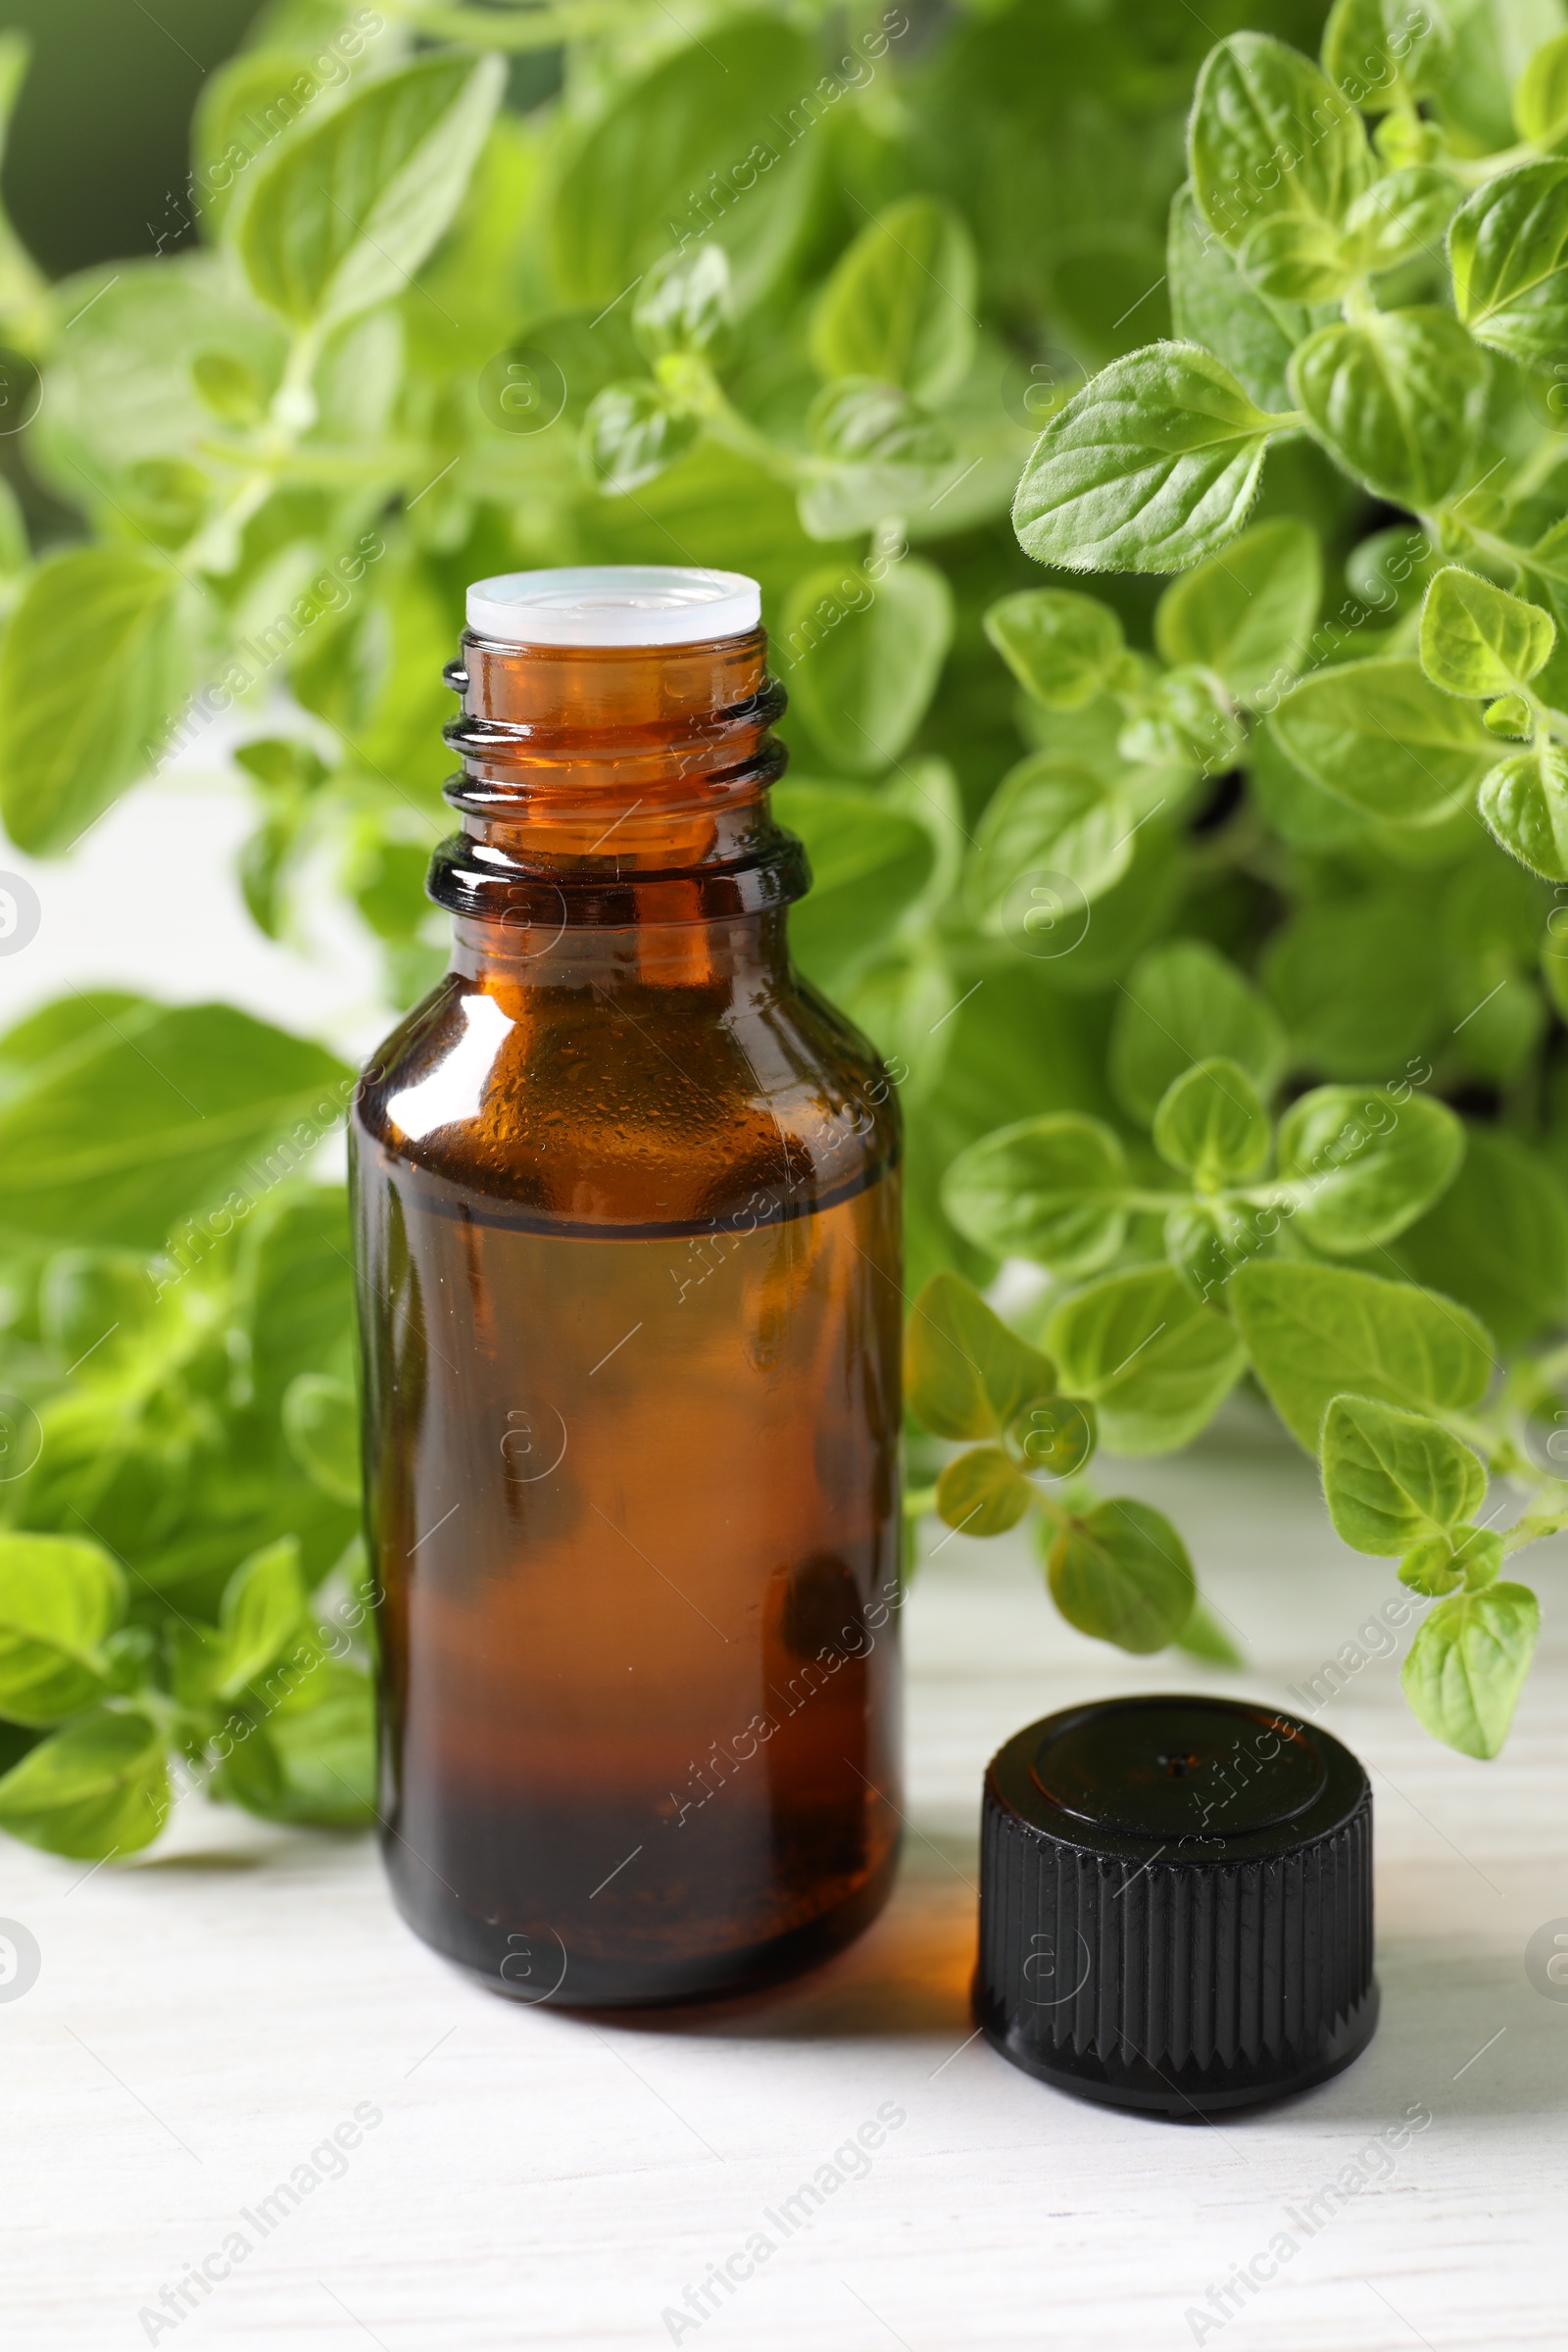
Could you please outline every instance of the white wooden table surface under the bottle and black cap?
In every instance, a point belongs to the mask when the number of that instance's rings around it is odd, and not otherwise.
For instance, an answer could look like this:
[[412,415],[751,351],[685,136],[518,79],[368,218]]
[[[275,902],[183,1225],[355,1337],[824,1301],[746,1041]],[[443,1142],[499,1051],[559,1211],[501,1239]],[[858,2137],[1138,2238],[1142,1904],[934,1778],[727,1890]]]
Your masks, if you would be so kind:
[[[614,2027],[512,2006],[402,1929],[369,1844],[205,1806],[141,1865],[92,1877],[0,1842],[0,1917],[42,1952],[31,1992],[0,2004],[0,2343],[1561,2345],[1568,2004],[1523,1969],[1533,1929],[1568,1915],[1556,1562],[1544,1665],[1497,1764],[1415,1729],[1396,1658],[1324,1710],[1378,1792],[1385,2009],[1347,2074],[1166,2124],[1065,2098],[971,2039],[976,1806],[1001,1738],[1100,1691],[1291,1705],[1288,1684],[1399,1590],[1335,1545],[1309,1465],[1246,1416],[1124,1486],[1173,1510],[1248,1672],[1126,1661],[1056,1618],[1023,1545],[950,1541],[907,1609],[898,1893],[778,1994]],[[1321,2197],[1410,2107],[1429,2126],[1361,2166],[1385,2176]],[[835,2164],[879,2114],[900,2122],[870,2159]],[[780,2201],[825,2164],[842,2185],[785,2232]],[[259,2204],[299,2166],[320,2183],[263,2230]],[[1319,2227],[1269,2256],[1307,2199]],[[773,2249],[755,2260],[759,2232]],[[752,2274],[693,2321],[684,2291],[731,2256]],[[1220,2319],[1208,2288],[1258,2256],[1276,2277],[1232,2288]],[[195,2307],[174,2293],[169,2321],[160,2293],[202,2263],[214,2284],[188,2288]]]

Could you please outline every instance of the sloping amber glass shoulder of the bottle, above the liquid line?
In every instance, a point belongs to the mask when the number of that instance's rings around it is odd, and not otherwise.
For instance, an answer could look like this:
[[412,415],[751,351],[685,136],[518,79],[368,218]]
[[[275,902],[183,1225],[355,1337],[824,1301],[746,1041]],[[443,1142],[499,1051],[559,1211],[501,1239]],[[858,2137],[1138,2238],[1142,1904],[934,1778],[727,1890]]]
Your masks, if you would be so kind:
[[703,1223],[844,1197],[900,1155],[893,1084],[813,988],[498,988],[449,971],[355,1094],[362,1174],[548,1221]]

